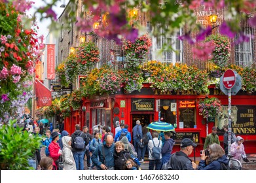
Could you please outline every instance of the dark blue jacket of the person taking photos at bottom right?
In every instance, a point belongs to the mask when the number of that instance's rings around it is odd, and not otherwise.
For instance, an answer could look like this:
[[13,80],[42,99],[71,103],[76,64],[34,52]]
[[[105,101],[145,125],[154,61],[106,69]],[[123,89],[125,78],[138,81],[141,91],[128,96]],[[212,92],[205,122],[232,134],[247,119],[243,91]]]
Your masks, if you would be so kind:
[[229,165],[229,160],[225,155],[215,161],[211,161],[209,165],[206,165],[206,161],[201,159],[198,164],[198,170],[221,170],[221,163]]

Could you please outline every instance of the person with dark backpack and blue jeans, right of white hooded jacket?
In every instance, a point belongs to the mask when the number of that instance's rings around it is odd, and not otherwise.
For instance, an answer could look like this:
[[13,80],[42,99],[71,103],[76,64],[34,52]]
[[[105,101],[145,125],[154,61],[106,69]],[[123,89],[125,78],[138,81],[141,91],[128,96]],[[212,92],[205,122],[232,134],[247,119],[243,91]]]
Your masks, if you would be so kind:
[[86,136],[82,133],[81,125],[75,125],[75,132],[71,135],[72,137],[72,152],[75,159],[75,165],[77,170],[84,169],[84,152],[85,152],[85,140]]

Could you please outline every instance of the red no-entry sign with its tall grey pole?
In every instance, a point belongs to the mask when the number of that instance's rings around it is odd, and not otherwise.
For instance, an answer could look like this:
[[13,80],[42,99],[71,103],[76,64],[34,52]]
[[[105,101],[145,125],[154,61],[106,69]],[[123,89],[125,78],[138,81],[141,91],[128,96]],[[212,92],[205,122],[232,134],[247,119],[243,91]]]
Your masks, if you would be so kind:
[[[236,73],[237,74],[237,73]],[[227,90],[229,90],[229,107],[228,107],[228,112],[229,112],[229,129],[228,129],[228,154],[230,155],[230,146],[231,146],[231,88],[234,87],[234,84],[236,84],[236,75],[234,71],[231,69],[228,69],[225,71],[224,75],[221,77],[221,82]],[[225,92],[223,92],[225,93]]]

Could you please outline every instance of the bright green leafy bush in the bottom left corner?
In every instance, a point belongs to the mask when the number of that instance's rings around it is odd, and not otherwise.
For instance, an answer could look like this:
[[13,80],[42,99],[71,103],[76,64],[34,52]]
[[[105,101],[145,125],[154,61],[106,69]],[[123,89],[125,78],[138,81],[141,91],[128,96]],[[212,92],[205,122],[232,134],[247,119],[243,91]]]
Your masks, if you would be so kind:
[[0,169],[26,170],[29,167],[27,159],[33,157],[39,149],[42,138],[31,135],[16,125],[14,121],[3,125],[0,129]]

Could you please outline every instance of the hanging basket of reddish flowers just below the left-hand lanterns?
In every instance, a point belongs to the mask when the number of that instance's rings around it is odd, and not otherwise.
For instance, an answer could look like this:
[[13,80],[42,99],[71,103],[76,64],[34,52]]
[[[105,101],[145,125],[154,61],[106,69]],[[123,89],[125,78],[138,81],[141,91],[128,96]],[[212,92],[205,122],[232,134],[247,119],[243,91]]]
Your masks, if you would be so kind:
[[95,67],[98,61],[100,61],[100,50],[94,42],[85,42],[77,48],[79,73],[85,75],[86,72],[91,71]]

